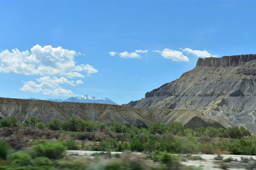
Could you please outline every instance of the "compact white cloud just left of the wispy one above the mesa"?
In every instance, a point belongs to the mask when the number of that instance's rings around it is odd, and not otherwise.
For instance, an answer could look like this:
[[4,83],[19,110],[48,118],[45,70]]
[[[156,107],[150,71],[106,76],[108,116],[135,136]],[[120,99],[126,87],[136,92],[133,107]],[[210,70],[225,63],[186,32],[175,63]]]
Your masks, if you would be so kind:
[[155,50],[154,52],[160,53],[166,59],[172,59],[174,61],[189,61],[189,58],[186,55],[183,55],[182,52],[172,50],[170,48],[164,48],[163,51]]

